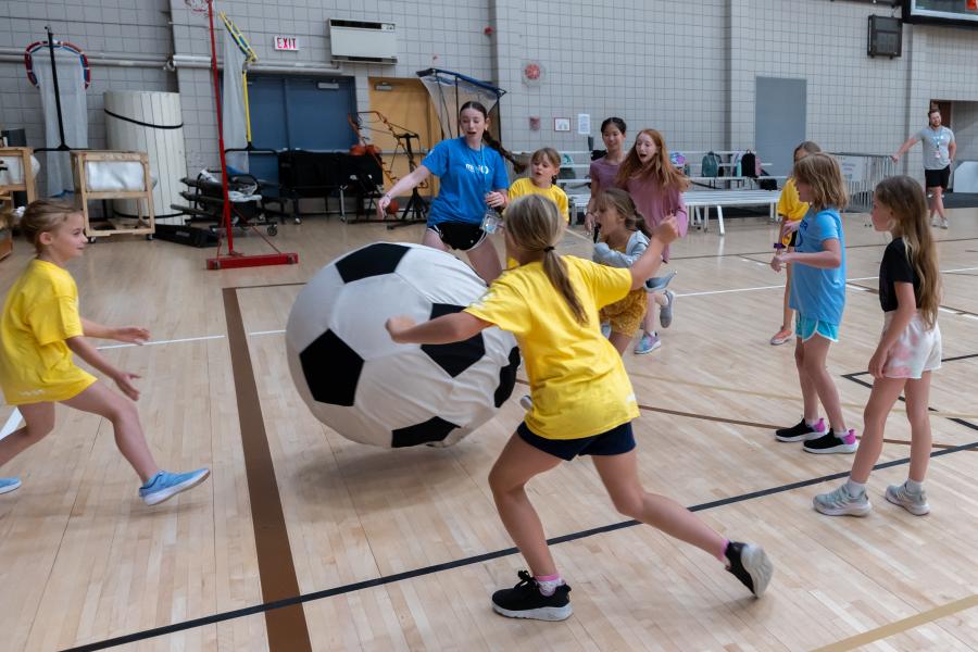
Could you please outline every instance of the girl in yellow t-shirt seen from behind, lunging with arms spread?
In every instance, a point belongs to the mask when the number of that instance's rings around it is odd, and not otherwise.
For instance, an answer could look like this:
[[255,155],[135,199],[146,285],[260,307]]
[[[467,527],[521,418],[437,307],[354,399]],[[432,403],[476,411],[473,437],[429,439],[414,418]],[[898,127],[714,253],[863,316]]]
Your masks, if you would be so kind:
[[497,613],[516,618],[563,620],[572,613],[570,587],[557,573],[540,517],[526,494],[535,476],[577,455],[592,455],[615,507],[626,516],[709,552],[755,595],[773,567],[764,550],[729,542],[675,501],[648,493],[638,477],[631,421],[638,404],[622,356],[601,335],[598,309],[642,289],[662,264],[663,248],[678,235],[674,216],[628,268],[559,255],[565,222],[553,202],[528,196],[514,201],[505,223],[506,253],[519,266],[492,281],[465,311],[415,324],[387,322],[400,343],[446,344],[498,326],[516,336],[526,363],[532,409],[510,438],[489,474],[503,525],[530,572],[492,595]]

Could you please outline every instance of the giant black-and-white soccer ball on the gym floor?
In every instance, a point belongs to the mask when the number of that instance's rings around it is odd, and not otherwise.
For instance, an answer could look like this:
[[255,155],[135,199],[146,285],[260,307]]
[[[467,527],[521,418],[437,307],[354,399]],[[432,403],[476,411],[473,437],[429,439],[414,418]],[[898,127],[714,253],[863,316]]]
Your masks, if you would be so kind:
[[453,255],[378,242],[326,265],[299,293],[286,327],[292,380],[321,422],[385,448],[451,446],[491,418],[516,381],[512,334],[397,344],[389,317],[418,323],[459,312],[486,285]]

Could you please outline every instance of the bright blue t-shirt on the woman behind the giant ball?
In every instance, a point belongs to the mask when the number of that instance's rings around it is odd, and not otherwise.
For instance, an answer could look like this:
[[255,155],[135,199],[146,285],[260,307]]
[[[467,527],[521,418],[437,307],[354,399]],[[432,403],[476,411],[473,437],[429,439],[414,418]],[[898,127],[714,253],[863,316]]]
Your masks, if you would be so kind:
[[486,193],[510,187],[506,165],[499,152],[486,143],[474,150],[466,145],[464,136],[436,145],[422,165],[441,181],[428,212],[428,224],[481,224],[488,208]]

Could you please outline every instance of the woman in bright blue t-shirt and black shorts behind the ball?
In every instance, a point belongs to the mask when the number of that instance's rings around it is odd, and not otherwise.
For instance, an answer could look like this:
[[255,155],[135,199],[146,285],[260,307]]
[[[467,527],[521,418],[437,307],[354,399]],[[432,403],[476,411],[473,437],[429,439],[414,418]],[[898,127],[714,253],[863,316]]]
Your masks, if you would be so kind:
[[435,175],[441,181],[428,212],[423,244],[448,251],[459,249],[487,284],[502,274],[496,247],[486,236],[482,221],[487,209],[506,205],[510,179],[500,153],[488,147],[489,113],[479,102],[465,102],[459,112],[462,136],[436,145],[421,165],[401,178],[377,204],[383,217],[392,197],[408,192]]

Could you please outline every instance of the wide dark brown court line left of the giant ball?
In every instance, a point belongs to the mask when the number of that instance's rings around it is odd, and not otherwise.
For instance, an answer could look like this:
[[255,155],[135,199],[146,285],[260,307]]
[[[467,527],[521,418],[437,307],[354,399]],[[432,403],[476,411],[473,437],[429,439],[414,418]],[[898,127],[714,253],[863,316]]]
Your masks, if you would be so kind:
[[[251,365],[251,353],[248,350],[248,336],[244,331],[238,291],[235,288],[224,288],[222,291],[235,378],[235,397],[238,403],[238,421],[241,427],[241,448],[244,452],[248,498],[251,502],[255,556],[262,585],[262,602],[268,603],[298,595],[299,580],[281,510],[278,482],[275,479],[275,466],[272,463],[272,452],[265,434],[265,422],[254,380],[254,368]],[[266,611],[265,630],[268,636],[268,650],[272,652],[312,652],[305,611],[301,604]]]

